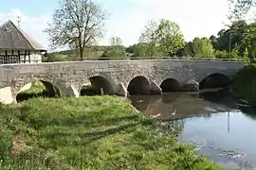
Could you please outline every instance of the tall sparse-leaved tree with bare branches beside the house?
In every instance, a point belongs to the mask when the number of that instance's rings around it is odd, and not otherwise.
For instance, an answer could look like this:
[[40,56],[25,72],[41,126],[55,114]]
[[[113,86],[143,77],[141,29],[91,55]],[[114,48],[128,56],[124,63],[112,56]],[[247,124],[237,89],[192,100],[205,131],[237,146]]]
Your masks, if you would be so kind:
[[53,48],[69,45],[82,59],[85,47],[101,38],[104,20],[101,7],[92,0],[61,0],[45,31]]

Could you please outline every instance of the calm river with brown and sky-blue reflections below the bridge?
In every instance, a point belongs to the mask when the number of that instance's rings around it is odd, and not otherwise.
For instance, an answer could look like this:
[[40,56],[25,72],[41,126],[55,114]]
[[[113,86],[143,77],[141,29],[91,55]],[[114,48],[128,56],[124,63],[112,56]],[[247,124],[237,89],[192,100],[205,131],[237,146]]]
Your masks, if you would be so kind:
[[137,110],[160,120],[181,143],[194,144],[198,154],[225,169],[256,169],[256,112],[238,104],[229,92],[135,95],[130,99]]

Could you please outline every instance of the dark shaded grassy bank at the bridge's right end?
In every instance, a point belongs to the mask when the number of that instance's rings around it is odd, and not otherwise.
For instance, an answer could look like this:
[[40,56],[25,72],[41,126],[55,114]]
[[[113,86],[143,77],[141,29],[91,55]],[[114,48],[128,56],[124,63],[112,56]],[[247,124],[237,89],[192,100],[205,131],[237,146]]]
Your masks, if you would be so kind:
[[247,65],[233,79],[233,92],[239,98],[256,102],[256,66]]

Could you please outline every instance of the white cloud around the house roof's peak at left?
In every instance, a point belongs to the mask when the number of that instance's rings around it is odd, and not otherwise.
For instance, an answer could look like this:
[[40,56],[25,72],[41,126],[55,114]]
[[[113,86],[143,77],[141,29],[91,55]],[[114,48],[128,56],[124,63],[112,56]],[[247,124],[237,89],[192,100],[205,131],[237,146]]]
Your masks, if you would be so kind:
[[28,16],[20,9],[13,8],[8,12],[0,12],[0,24],[2,25],[10,20],[18,26],[18,16],[21,17],[20,26],[23,31],[25,31],[33,40],[48,48],[49,42],[47,41],[46,34],[43,31],[46,29],[47,23],[50,21],[50,16]]

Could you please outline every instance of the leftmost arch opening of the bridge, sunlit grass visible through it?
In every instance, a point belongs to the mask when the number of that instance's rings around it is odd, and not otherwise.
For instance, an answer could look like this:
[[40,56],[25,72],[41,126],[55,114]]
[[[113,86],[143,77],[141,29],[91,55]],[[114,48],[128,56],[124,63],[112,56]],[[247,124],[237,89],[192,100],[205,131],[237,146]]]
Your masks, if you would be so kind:
[[[28,83],[25,81],[19,87],[18,91],[14,93],[17,102],[39,96],[60,97],[62,95],[61,89],[49,80],[33,79]],[[27,90],[30,90],[30,92],[25,93]]]

